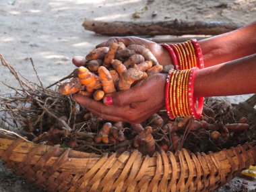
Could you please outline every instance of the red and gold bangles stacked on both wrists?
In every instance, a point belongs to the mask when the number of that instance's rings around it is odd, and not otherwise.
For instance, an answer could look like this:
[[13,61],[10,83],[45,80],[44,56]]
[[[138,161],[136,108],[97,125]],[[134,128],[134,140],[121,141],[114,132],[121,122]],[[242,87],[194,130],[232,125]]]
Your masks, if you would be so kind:
[[193,94],[195,73],[203,69],[203,54],[195,39],[177,44],[162,44],[170,53],[174,69],[166,79],[166,111],[170,119],[193,116],[199,119],[203,110],[203,97]]

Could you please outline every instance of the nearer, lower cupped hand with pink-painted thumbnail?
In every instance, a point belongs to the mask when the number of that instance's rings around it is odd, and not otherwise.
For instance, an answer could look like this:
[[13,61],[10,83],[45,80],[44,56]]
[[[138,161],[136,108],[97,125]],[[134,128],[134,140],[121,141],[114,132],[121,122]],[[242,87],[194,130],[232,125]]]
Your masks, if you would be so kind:
[[162,73],[150,75],[129,90],[106,95],[104,103],[79,94],[73,99],[102,119],[141,123],[164,107],[166,77]]

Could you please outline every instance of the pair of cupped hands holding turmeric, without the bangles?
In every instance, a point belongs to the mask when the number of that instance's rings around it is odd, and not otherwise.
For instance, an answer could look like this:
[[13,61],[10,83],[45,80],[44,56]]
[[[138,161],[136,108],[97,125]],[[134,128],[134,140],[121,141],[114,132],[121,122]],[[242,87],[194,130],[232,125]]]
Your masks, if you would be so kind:
[[[145,45],[158,60],[160,65],[170,65],[170,55],[166,49],[150,40],[137,37],[112,37],[100,46],[110,46],[113,42]],[[85,65],[84,57],[73,57],[73,64],[77,67]],[[164,89],[167,74],[158,73],[141,80],[129,90],[107,94],[103,102],[93,100],[79,94],[73,99],[82,104],[96,116],[108,121],[124,121],[127,123],[141,123],[152,114],[158,112],[165,105]]]

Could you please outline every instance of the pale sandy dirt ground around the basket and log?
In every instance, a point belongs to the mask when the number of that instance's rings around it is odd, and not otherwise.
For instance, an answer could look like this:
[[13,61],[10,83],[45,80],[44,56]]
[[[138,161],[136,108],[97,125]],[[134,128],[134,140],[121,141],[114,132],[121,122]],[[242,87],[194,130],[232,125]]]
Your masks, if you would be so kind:
[[[140,18],[133,18],[133,13]],[[47,86],[73,70],[73,56],[85,55],[108,38],[85,31],[82,28],[84,18],[218,20],[245,25],[253,22],[255,15],[255,0],[5,0],[0,1],[0,53],[24,77],[36,81],[29,59],[32,57],[38,75]],[[0,81],[14,86],[13,77],[2,66]],[[1,84],[0,93],[3,92],[9,89]],[[230,99],[238,102],[245,98]],[[2,165],[0,175],[0,191],[40,191]]]

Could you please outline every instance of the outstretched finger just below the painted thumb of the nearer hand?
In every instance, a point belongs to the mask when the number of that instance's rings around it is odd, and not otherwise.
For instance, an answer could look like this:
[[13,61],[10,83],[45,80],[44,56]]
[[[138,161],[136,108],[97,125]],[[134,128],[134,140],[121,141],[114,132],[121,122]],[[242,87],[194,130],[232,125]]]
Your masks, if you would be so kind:
[[109,115],[113,117],[120,117],[123,114],[123,109],[117,106],[106,106],[102,102],[93,100],[92,98],[88,98],[86,96],[82,96],[79,94],[73,95],[73,100],[82,104],[88,110],[91,110],[93,113],[97,113],[97,115]]

